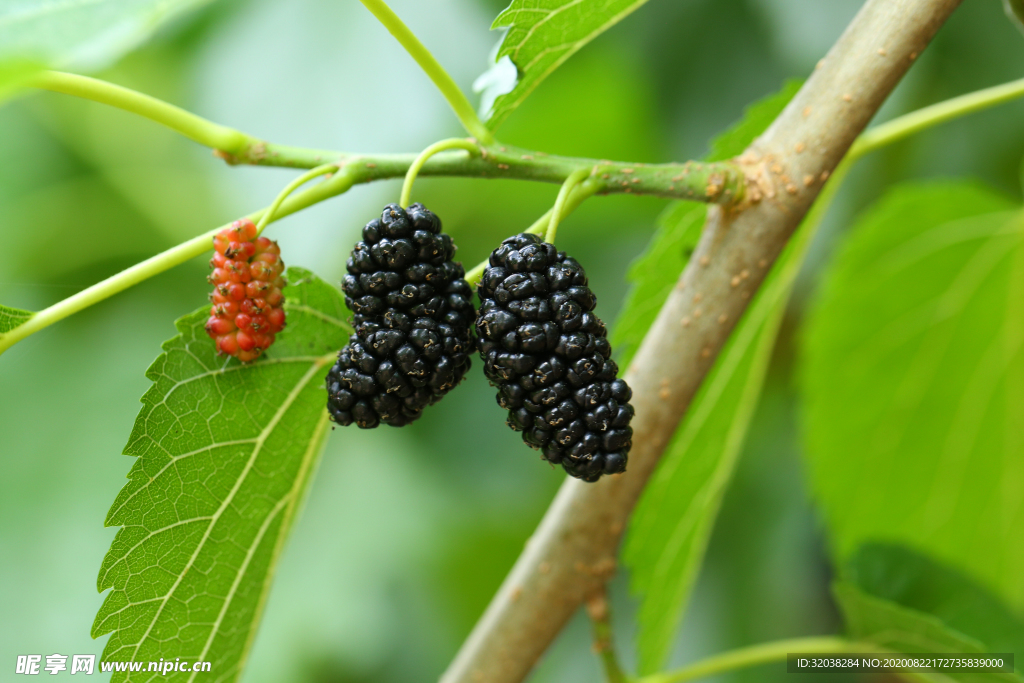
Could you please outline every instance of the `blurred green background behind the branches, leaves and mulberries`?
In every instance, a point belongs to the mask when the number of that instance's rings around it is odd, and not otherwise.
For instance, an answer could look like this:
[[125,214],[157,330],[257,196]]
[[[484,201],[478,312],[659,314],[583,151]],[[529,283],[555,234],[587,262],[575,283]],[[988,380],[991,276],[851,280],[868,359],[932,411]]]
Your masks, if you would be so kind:
[[[456,80],[486,68],[501,0],[394,0]],[[859,0],[651,0],[545,81],[501,129],[549,153],[636,161],[702,156],[750,101],[804,77]],[[998,0],[957,10],[881,119],[1019,78],[1024,39]],[[410,152],[459,134],[444,101],[356,2],[219,0],[100,74],[290,144]],[[396,96],[396,94],[398,96]],[[862,162],[814,247],[712,540],[675,663],[762,640],[835,633],[830,569],[808,501],[794,366],[802,311],[850,218],[890,183],[973,176],[1020,197],[1024,103],[918,135]],[[155,124],[30,94],[0,110],[0,302],[39,309],[269,202],[292,177],[228,168]],[[556,187],[424,179],[416,198],[475,263],[554,201]],[[338,281],[361,225],[398,182],[354,188],[273,225],[285,260]],[[665,206],[598,198],[559,231],[614,319],[624,273]],[[96,653],[102,526],[131,461],[119,455],[172,322],[203,304],[204,259],[18,344],[0,358],[0,667],[16,654]],[[435,680],[562,480],[508,430],[482,376],[403,430],[331,437],[244,680]],[[481,447],[481,444],[485,444]],[[631,599],[614,583],[621,650]],[[4,680],[7,673],[3,675]],[[98,675],[97,675],[98,676]],[[597,681],[577,618],[536,681]],[[722,680],[783,680],[760,669]],[[805,677],[810,683],[811,677]],[[828,680],[840,680],[830,677]],[[852,680],[852,679],[851,679]]]

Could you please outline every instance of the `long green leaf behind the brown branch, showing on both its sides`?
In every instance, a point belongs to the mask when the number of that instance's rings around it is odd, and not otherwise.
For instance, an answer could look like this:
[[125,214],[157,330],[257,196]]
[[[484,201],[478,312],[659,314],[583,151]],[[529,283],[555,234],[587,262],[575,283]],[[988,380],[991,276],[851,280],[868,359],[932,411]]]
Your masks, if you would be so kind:
[[[715,141],[713,156],[725,159],[741,153],[782,111],[798,87],[787,84],[779,93],[751,106],[739,124]],[[670,208],[646,253],[631,269],[634,285],[614,337],[616,344],[626,345],[627,359],[675,286],[703,218],[700,205],[680,203]],[[798,232],[765,281],[719,354],[633,513],[623,558],[631,569],[632,588],[640,596],[637,646],[641,674],[659,670],[670,654],[814,227],[810,221]]]

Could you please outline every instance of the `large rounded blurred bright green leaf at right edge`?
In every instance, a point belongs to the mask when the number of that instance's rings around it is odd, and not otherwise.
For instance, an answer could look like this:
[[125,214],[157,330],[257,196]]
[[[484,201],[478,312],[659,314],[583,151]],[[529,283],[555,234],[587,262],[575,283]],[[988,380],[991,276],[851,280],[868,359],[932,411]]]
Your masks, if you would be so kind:
[[892,190],[807,323],[811,484],[838,562],[906,545],[1024,605],[1024,214],[983,187]]

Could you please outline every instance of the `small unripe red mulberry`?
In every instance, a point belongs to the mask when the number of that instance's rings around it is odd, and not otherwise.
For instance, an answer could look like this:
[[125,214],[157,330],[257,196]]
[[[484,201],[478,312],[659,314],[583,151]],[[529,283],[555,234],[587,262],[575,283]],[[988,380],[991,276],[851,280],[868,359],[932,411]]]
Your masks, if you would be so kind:
[[256,239],[251,220],[231,223],[213,238],[213,284],[206,332],[217,350],[243,362],[258,358],[285,327],[285,262],[278,243]]

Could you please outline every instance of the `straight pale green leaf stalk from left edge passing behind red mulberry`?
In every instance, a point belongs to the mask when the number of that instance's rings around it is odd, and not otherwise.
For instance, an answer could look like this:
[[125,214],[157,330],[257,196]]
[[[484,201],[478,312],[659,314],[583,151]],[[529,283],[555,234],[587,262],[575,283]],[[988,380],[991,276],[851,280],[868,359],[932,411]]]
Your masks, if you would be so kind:
[[[323,202],[329,197],[340,195],[351,186],[351,176],[345,173],[338,173],[330,180],[322,182],[315,187],[311,187],[303,193],[300,193],[299,195],[296,195],[290,200],[285,201],[274,212],[273,220],[284,218],[285,216],[293,214],[296,211],[301,211],[306,207]],[[254,221],[261,221],[267,209],[260,209],[259,211],[249,214],[248,218]],[[77,313],[84,308],[88,308],[95,303],[99,303],[103,299],[108,299],[115,294],[123,292],[129,287],[138,285],[156,274],[169,270],[170,268],[180,265],[185,261],[196,258],[197,256],[202,256],[213,248],[211,242],[213,236],[224,227],[227,227],[227,225],[221,225],[220,227],[195,237],[191,240],[183,242],[176,247],[172,247],[161,254],[157,254],[156,256],[140,263],[136,263],[116,275],[111,275],[106,280],[96,283],[92,287],[84,289],[65,300],[53,304],[49,308],[44,308],[43,310],[35,313],[24,324],[6,334],[0,335],[0,353],[3,353],[26,337],[48,328],[69,315]]]

